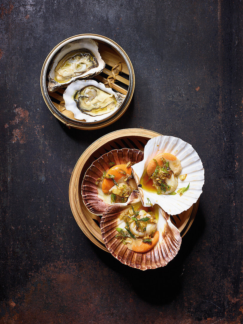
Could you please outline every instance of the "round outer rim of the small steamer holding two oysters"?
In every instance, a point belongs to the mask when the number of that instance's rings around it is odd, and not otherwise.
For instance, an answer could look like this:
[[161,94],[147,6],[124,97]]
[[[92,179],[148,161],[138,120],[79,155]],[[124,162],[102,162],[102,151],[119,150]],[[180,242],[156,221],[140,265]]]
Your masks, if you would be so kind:
[[[128,87],[128,92],[126,95],[126,98],[124,99],[122,105],[119,107],[119,109],[114,113],[114,115],[109,116],[102,121],[95,121],[92,123],[88,122],[81,122],[76,119],[69,118],[62,114],[52,103],[50,96],[47,91],[47,85],[46,85],[46,77],[47,77],[47,72],[48,68],[52,63],[52,59],[55,56],[55,54],[58,52],[58,50],[61,49],[61,47],[65,46],[67,43],[70,43],[71,41],[76,41],[79,39],[84,39],[84,38],[91,38],[95,41],[101,41],[104,42],[105,44],[109,45],[114,49],[115,52],[118,52],[119,55],[121,55],[128,67],[129,71],[129,87]],[[134,93],[134,88],[135,88],[135,74],[134,74],[134,69],[132,66],[132,63],[128,57],[128,54],[123,50],[123,48],[118,45],[115,41],[111,40],[110,38],[98,34],[78,34],[75,36],[71,36],[60,43],[58,43],[52,51],[48,54],[46,57],[42,70],[41,70],[41,92],[42,96],[44,98],[44,101],[48,107],[48,109],[51,111],[51,113],[61,122],[63,122],[68,128],[73,127],[73,128],[78,128],[81,130],[95,130],[95,129],[100,129],[103,127],[106,127],[115,121],[117,121],[128,109],[132,96]],[[111,119],[112,118],[112,119]],[[89,126],[90,125],[90,126]]]

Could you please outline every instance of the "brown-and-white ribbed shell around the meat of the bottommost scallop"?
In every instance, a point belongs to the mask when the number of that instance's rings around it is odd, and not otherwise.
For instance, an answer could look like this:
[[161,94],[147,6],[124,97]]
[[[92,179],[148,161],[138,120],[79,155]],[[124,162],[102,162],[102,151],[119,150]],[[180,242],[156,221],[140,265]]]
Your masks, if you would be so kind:
[[101,219],[101,234],[106,248],[119,261],[140,270],[164,267],[177,254],[181,245],[180,232],[174,226],[168,214],[159,208],[157,230],[160,232],[159,241],[147,253],[137,253],[128,249],[120,239],[117,239],[116,228],[122,222],[119,215],[129,205],[140,202],[138,191],[133,191],[127,203],[116,203],[106,208]]

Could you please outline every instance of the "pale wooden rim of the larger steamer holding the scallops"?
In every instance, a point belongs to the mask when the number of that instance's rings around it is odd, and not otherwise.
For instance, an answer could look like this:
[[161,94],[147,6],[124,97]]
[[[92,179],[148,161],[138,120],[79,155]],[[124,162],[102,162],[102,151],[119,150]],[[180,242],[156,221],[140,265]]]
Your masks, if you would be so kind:
[[[93,242],[96,246],[98,246],[99,248],[103,249],[106,252],[109,251],[106,249],[104,243],[102,243],[103,240],[101,241],[100,238],[98,237],[97,231],[94,228],[92,228],[89,222],[87,221],[87,219],[85,219],[80,204],[80,200],[79,200],[80,190],[81,190],[81,188],[79,188],[80,176],[81,173],[85,173],[87,171],[86,169],[83,171],[84,165],[94,152],[101,149],[103,145],[111,141],[117,140],[118,138],[129,137],[129,136],[153,138],[160,135],[161,134],[157,132],[146,130],[146,129],[140,129],[140,128],[128,128],[128,129],[123,129],[123,130],[118,130],[115,132],[108,133],[107,135],[104,135],[99,139],[97,139],[95,142],[93,142],[83,152],[83,154],[79,157],[73,169],[70,183],[69,183],[69,202],[70,202],[71,211],[82,232],[91,240],[91,242]],[[192,225],[192,222],[198,210],[198,205],[199,205],[199,200],[196,203],[194,203],[190,208],[186,221],[182,224],[181,228],[179,229],[181,237],[183,237],[187,233],[188,229]],[[93,219],[92,221],[94,222]]]

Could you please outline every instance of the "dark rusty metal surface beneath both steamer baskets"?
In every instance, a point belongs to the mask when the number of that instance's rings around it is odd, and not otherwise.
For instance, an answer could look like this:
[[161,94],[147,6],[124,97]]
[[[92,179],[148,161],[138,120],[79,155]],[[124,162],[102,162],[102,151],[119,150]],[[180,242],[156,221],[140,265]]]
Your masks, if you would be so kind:
[[[242,2],[3,1],[0,5],[1,323],[243,323]],[[128,53],[134,98],[113,125],[67,129],[39,77],[79,33]],[[96,248],[68,202],[94,140],[141,127],[188,141],[205,167],[195,221],[176,258],[140,272]]]

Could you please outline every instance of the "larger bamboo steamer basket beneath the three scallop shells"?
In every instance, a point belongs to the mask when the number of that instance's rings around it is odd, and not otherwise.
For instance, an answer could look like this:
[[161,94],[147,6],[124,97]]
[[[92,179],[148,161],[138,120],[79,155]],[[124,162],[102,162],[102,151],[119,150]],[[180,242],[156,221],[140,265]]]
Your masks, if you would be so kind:
[[[84,205],[81,196],[83,177],[91,164],[103,154],[121,148],[136,148],[143,151],[144,146],[153,137],[161,134],[139,128],[123,129],[104,135],[91,144],[80,156],[71,175],[69,184],[69,202],[72,213],[83,233],[99,248],[106,249],[100,230],[100,216],[92,214]],[[171,216],[172,223],[183,237],[191,226],[197,213],[199,200],[187,211]]]

